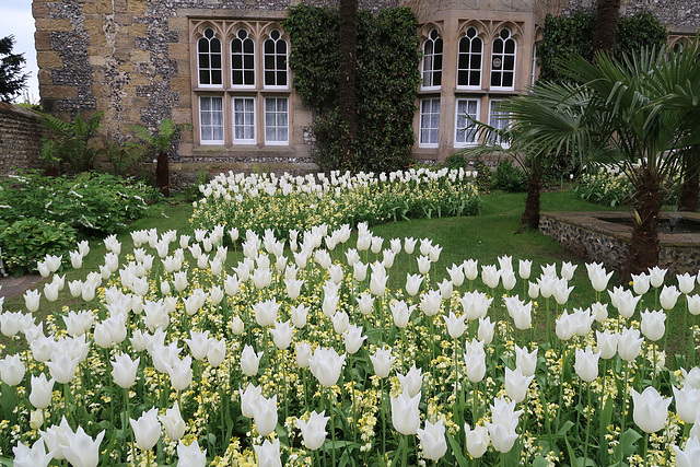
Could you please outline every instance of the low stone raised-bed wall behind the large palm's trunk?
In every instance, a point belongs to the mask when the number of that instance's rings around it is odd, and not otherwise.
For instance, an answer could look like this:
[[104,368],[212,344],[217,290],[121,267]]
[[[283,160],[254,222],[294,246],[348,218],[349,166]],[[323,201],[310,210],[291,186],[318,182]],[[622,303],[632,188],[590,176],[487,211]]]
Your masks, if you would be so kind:
[[[700,214],[685,213],[700,222]],[[629,212],[544,212],[539,230],[564,248],[586,261],[603,262],[606,268],[620,271],[627,260],[632,227],[609,220],[630,218]],[[662,219],[665,215],[662,215]],[[658,267],[668,275],[700,270],[700,234],[660,234]]]

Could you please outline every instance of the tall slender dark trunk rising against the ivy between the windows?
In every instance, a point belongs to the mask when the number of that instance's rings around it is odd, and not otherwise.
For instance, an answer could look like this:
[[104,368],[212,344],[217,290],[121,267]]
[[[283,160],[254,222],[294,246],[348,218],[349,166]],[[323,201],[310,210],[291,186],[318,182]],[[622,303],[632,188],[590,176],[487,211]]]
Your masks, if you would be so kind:
[[339,104],[340,121],[343,125],[341,144],[341,168],[352,166],[352,143],[358,133],[355,97],[357,49],[358,49],[358,0],[340,0],[340,62]]

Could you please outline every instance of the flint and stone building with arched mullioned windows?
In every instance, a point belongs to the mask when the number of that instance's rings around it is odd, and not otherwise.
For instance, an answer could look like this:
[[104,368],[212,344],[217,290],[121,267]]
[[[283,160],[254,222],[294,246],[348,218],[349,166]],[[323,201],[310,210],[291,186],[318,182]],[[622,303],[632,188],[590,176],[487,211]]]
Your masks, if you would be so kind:
[[[191,124],[175,171],[293,170],[308,157],[311,113],[291,87],[280,26],[299,0],[34,0],[44,107],[70,118],[104,112],[104,130]],[[332,3],[312,0],[311,4]],[[499,102],[537,74],[545,15],[592,10],[594,0],[361,0],[407,5],[421,24],[422,84],[413,155],[443,160],[474,144],[469,114],[497,121]],[[700,25],[697,0],[622,0],[651,10],[685,40]]]

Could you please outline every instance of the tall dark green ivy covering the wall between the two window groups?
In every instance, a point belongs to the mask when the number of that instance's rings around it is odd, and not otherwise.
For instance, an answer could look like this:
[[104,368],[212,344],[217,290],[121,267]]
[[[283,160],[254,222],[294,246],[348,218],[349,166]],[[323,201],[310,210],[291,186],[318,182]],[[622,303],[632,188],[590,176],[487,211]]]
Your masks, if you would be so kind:
[[418,21],[406,8],[358,14],[355,159],[339,167],[343,128],[338,113],[338,11],[301,4],[284,20],[294,89],[318,116],[312,154],[325,170],[383,172],[405,167],[420,75]]

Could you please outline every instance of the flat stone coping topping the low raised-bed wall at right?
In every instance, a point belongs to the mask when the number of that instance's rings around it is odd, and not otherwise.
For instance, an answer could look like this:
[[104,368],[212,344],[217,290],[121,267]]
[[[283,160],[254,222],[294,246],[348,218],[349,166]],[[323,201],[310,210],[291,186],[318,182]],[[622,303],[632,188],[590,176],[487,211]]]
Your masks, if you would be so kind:
[[[700,225],[700,213],[697,212],[662,212],[660,220],[667,220],[672,215],[679,215],[684,219]],[[616,240],[629,243],[632,238],[632,226],[614,222],[618,219],[632,220],[630,211],[595,211],[595,212],[575,212],[575,211],[558,211],[542,212],[540,217],[549,218],[553,221],[576,225],[591,232],[605,234]],[[700,233],[674,233],[658,234],[658,241],[664,246],[678,247],[699,247]]]

